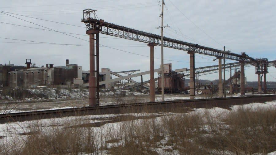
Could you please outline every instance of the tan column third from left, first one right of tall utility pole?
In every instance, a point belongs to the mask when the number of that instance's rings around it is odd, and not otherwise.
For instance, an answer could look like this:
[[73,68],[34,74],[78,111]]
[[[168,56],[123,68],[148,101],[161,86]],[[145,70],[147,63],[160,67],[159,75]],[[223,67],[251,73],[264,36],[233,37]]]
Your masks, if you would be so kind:
[[190,100],[195,99],[195,92],[194,92],[194,51],[188,51],[190,54]]

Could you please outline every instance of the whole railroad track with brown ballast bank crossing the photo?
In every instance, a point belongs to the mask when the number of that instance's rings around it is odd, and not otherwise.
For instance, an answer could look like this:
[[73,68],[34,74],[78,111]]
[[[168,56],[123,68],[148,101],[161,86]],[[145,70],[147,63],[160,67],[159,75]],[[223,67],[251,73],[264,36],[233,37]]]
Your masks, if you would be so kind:
[[[197,99],[197,100],[171,100],[161,102],[146,102],[146,103],[130,103],[130,104],[114,104],[93,107],[79,107],[68,109],[42,110],[30,112],[15,112],[0,114],[0,123],[25,121],[33,119],[66,117],[74,115],[96,115],[96,114],[114,114],[125,112],[126,109],[131,109],[132,112],[141,110],[141,107],[153,107],[151,110],[168,110],[172,107],[179,108],[229,108],[232,105],[248,104],[253,102],[264,103],[265,101],[276,100],[276,95],[263,96],[244,96],[244,97],[228,97],[214,99]],[[135,108],[134,108],[135,107]]]

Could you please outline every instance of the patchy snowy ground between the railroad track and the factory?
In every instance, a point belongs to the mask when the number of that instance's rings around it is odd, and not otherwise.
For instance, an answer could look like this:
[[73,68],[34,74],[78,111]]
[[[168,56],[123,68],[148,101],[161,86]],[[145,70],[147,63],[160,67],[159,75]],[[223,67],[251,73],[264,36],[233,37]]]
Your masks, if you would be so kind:
[[[11,112],[26,112],[38,110],[52,110],[84,107],[88,105],[88,89],[26,89],[30,96],[24,100],[15,100],[10,96],[2,96],[5,100],[0,103],[0,113]],[[42,95],[41,95],[42,94]],[[122,95],[123,94],[123,95]],[[252,94],[246,94],[252,95]],[[257,95],[257,94],[255,94]],[[227,94],[227,97],[240,97],[240,94]],[[203,94],[196,95],[196,99],[204,99],[206,96]],[[216,96],[213,96],[216,98]],[[189,100],[188,94],[165,94],[164,100]],[[13,101],[13,103],[8,103]],[[101,89],[100,92],[100,105],[122,104],[122,103],[143,103],[149,102],[148,92],[139,93],[130,90],[107,90]],[[155,95],[155,101],[161,101],[161,95]],[[6,103],[6,104],[5,104]]]

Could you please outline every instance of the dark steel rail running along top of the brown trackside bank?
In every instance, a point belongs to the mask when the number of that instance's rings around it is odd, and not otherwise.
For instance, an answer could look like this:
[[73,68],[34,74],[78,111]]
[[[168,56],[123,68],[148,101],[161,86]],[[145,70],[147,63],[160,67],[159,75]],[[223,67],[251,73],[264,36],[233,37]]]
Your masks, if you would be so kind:
[[[68,112],[81,112],[81,111],[96,111],[96,110],[112,110],[113,108],[127,108],[132,106],[148,106],[148,105],[163,105],[163,104],[184,104],[184,103],[202,103],[204,102],[206,105],[210,102],[223,101],[227,100],[228,102],[231,100],[248,100],[254,98],[254,101],[257,99],[267,99],[272,98],[270,100],[276,100],[276,95],[265,95],[265,96],[244,96],[244,97],[228,97],[228,98],[212,98],[212,99],[197,99],[197,100],[171,100],[171,101],[160,101],[160,102],[146,102],[146,103],[132,103],[132,104],[114,104],[114,105],[104,105],[104,106],[93,106],[93,107],[80,107],[80,108],[68,108],[68,109],[54,109],[54,110],[42,110],[42,111],[31,111],[31,112],[15,112],[15,113],[5,113],[0,114],[0,123],[11,118],[21,118],[21,117],[29,117],[29,116],[37,116],[37,115],[53,115],[58,113],[68,113]],[[252,100],[253,101],[253,100]],[[191,108],[191,107],[187,107]],[[16,119],[14,119],[16,120]]]

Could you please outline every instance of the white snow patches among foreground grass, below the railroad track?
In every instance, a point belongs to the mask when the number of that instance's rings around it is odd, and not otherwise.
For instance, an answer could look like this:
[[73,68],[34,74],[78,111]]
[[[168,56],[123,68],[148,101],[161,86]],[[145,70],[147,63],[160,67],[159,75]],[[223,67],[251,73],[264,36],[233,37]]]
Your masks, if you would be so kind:
[[[250,108],[251,110],[256,110],[259,108],[276,108],[276,100],[271,102],[265,102],[263,103],[251,103],[251,104],[245,104],[245,105],[235,105],[232,106],[232,110],[237,110],[239,108]],[[223,109],[223,108],[211,108],[211,109],[202,109],[202,108],[195,108],[194,112],[191,113],[209,113],[213,116],[213,118],[220,118],[224,116],[229,110]],[[74,122],[74,120],[78,120],[82,123],[97,123],[97,122],[107,122],[103,123],[100,127],[91,127],[96,133],[105,133],[110,132],[107,131],[110,127],[113,127],[112,129],[118,129],[120,126],[120,121],[115,123],[109,123],[108,121],[116,118],[121,117],[122,115],[131,115],[139,118],[139,116],[152,116],[156,120],[160,120],[161,117],[166,117],[169,115],[178,115],[177,113],[128,113],[128,114],[111,114],[111,115],[88,115],[88,116],[72,116],[72,117],[64,117],[64,118],[52,118],[52,119],[40,119],[40,120],[33,120],[33,121],[24,121],[24,122],[14,122],[14,123],[4,123],[0,124],[0,142],[10,142],[13,141],[14,138],[26,138],[28,135],[25,133],[30,132],[30,126],[36,126],[39,128],[42,128],[43,131],[47,132],[47,129],[50,129],[51,127],[66,127],[70,126],[67,123],[68,122]],[[73,120],[73,121],[72,121]],[[208,126],[206,127],[206,131],[208,131]],[[172,146],[164,145],[169,140],[168,137],[165,137],[160,141],[160,145],[156,148],[156,151],[160,154],[167,154],[167,152],[164,152],[166,149],[172,149]],[[114,143],[107,143],[107,148],[114,147],[117,145],[120,145],[121,141],[114,142]],[[163,145],[161,145],[163,144]],[[103,150],[101,153],[105,154],[106,150]],[[177,154],[177,153],[176,153]],[[228,153],[226,153],[228,154]],[[232,154],[231,152],[229,154]],[[276,155],[276,150],[274,152],[268,153],[269,155]],[[261,154],[255,154],[255,155],[261,155]]]

